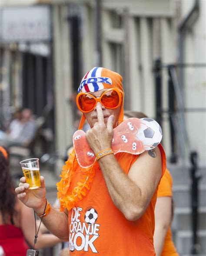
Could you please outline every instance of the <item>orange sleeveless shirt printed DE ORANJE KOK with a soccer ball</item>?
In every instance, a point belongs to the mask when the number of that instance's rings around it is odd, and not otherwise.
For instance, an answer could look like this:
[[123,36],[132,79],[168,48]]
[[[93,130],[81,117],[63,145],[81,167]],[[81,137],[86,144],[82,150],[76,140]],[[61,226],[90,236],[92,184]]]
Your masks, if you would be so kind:
[[[166,156],[161,145],[159,150],[163,175]],[[138,155],[118,153],[115,157],[124,173],[128,174]],[[76,186],[82,171],[79,166],[71,188]],[[113,204],[98,167],[91,189],[68,214],[71,255],[90,256],[98,253],[99,256],[155,256],[153,233],[156,197],[157,189],[143,216],[136,221],[127,220]]]

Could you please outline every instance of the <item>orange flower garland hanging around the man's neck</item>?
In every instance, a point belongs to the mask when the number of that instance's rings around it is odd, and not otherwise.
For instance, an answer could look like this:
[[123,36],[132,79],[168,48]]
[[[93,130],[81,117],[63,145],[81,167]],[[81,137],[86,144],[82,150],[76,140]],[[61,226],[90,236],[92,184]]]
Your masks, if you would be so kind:
[[93,166],[88,168],[81,168],[81,179],[77,182],[77,186],[71,191],[70,184],[73,179],[77,168],[79,167],[76,160],[74,150],[70,153],[69,159],[65,162],[66,165],[62,168],[62,173],[60,177],[62,178],[60,182],[56,183],[57,197],[60,200],[60,211],[63,211],[64,208],[67,210],[72,209],[77,203],[83,199],[83,196],[86,196],[86,193],[91,188],[91,183],[95,176],[95,171],[98,166],[98,163],[95,162]]

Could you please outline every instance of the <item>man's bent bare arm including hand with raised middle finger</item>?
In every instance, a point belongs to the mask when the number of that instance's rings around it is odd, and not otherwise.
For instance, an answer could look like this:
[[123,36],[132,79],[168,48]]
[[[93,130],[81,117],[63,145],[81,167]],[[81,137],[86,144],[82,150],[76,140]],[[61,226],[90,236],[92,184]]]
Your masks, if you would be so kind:
[[[99,103],[96,104],[96,112],[98,122],[86,132],[86,140],[95,154],[111,148],[114,120],[113,115],[109,116],[107,126],[105,125]],[[142,153],[130,168],[128,176],[113,154],[103,156],[98,162],[113,203],[126,219],[139,219],[150,203],[161,177],[162,160],[159,148]]]

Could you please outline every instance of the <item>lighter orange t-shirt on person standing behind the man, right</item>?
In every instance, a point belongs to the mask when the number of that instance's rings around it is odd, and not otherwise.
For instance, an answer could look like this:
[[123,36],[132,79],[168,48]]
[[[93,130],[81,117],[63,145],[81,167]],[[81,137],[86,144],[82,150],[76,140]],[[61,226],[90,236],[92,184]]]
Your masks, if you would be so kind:
[[[163,197],[163,196],[172,197],[173,196],[172,187],[173,187],[173,178],[169,173],[169,170],[166,169],[159,183],[157,197]],[[166,233],[165,243],[164,243],[161,256],[178,256],[178,255],[179,254],[176,252],[176,248],[172,240],[171,227],[169,226],[169,229],[167,230],[167,233]]]

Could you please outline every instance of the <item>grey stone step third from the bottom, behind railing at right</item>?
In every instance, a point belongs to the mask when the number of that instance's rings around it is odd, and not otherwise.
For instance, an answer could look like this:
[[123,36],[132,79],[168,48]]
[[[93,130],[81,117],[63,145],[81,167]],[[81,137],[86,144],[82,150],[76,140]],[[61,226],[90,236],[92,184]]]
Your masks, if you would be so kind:
[[[175,207],[189,207],[190,206],[190,189],[189,185],[174,185],[173,186],[173,200]],[[206,207],[206,184],[199,185],[199,207]]]

